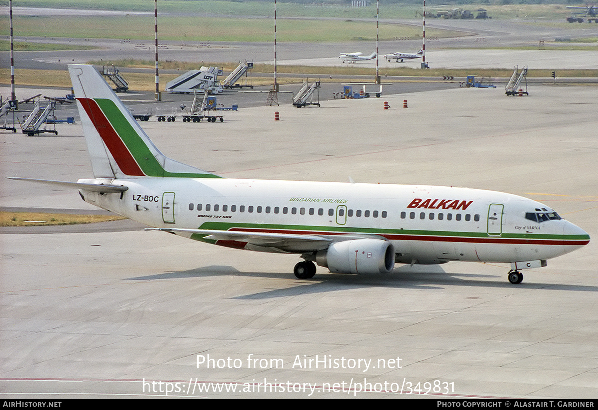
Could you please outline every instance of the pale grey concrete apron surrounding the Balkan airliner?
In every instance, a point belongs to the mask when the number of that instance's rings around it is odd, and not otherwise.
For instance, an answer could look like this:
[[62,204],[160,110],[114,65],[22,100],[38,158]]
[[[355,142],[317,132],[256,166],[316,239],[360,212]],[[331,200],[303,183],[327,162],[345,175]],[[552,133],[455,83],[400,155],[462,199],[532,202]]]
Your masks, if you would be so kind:
[[[593,241],[514,286],[499,264],[320,267],[297,280],[297,256],[164,232],[0,232],[2,397],[597,397],[596,92],[529,91],[399,91],[141,123],[168,157],[221,176],[511,192]],[[0,140],[1,206],[91,209],[77,192],[4,178],[90,177],[80,124]]]

